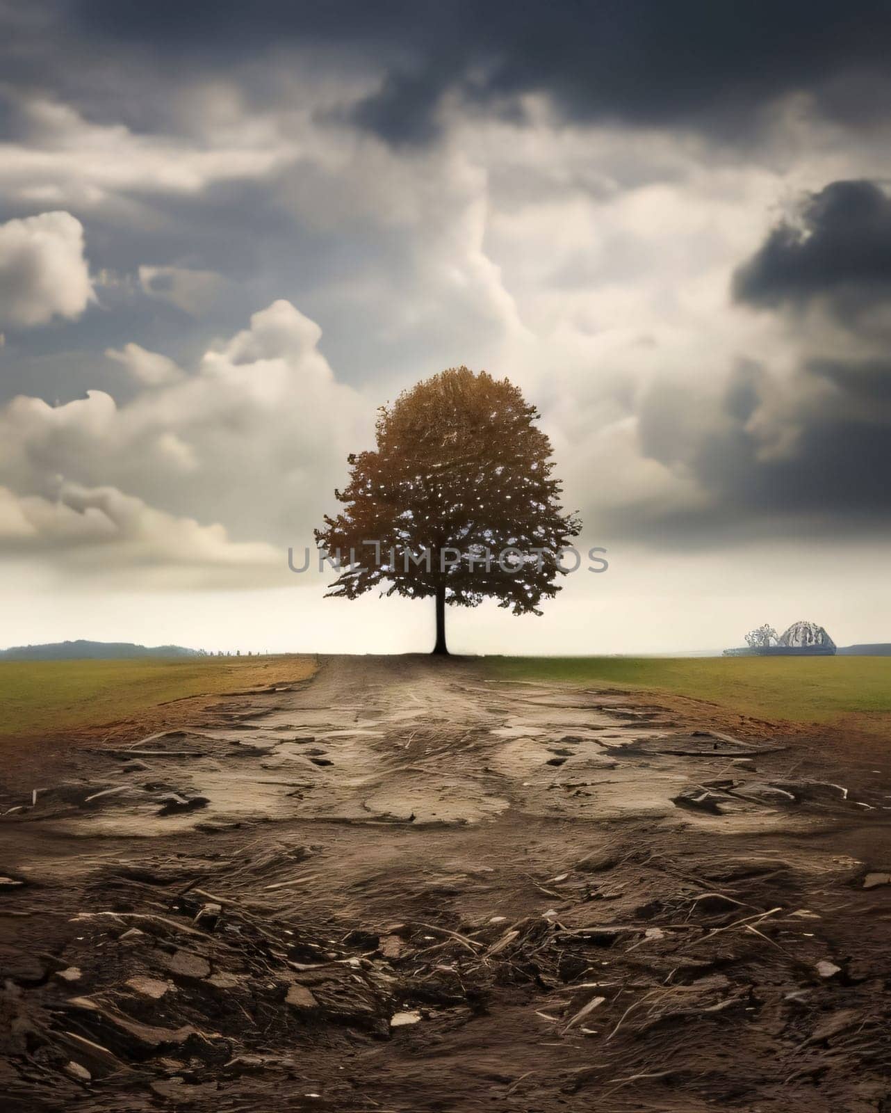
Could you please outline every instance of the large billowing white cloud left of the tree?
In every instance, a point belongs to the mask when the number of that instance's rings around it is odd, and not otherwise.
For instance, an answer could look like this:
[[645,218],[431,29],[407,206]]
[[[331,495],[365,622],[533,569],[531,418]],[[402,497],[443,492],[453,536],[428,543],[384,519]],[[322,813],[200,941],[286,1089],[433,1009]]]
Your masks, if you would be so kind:
[[320,335],[279,301],[194,374],[137,345],[110,353],[143,383],[125,405],[101,391],[60,406],[13,398],[0,410],[0,533],[71,575],[286,578],[286,546],[311,544],[374,417],[336,382]]

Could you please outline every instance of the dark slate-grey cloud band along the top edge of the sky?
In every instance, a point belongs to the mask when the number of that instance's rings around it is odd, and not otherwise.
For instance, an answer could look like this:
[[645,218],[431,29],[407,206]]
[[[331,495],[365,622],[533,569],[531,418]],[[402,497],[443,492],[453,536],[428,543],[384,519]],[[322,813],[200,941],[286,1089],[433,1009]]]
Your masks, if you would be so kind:
[[[380,77],[356,119],[383,137],[422,142],[436,132],[442,95],[461,90],[492,105],[552,95],[567,117],[717,126],[724,139],[751,128],[773,98],[812,91],[825,111],[850,117],[852,98],[881,89],[891,48],[891,7],[881,0],[57,0],[44,50],[17,49],[21,73],[46,68],[85,80],[88,43],[100,75],[138,57],[160,71],[230,70],[289,55],[324,56]],[[20,32],[21,33],[21,32]],[[62,48],[63,47],[63,51]],[[120,58],[120,56],[128,56]],[[885,98],[873,95],[872,104]]]

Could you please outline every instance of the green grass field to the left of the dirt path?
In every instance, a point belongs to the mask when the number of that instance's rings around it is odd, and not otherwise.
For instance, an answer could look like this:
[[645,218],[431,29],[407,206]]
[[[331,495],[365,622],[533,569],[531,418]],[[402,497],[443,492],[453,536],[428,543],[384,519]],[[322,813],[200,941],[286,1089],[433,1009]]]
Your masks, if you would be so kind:
[[310,658],[297,657],[0,661],[0,737],[135,719],[171,700],[298,680],[313,670]]

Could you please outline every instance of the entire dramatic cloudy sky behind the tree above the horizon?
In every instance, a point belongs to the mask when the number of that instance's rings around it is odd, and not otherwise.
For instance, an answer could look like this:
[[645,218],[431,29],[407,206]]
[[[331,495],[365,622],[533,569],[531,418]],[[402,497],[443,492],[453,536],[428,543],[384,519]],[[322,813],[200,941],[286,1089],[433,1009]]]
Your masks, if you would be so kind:
[[879,0],[0,0],[0,642],[425,648],[286,549],[461,363],[611,567],[455,648],[891,639],[889,51]]

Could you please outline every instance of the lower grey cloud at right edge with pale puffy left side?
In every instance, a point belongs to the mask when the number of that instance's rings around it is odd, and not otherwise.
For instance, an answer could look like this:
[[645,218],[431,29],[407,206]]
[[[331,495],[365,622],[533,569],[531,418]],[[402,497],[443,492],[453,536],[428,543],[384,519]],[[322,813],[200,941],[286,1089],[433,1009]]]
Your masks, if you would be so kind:
[[616,528],[675,544],[887,533],[891,362],[806,361],[792,387],[778,408],[775,383],[751,361],[711,408],[676,384],[654,387],[638,414],[641,450],[706,498],[694,511],[625,511]]

